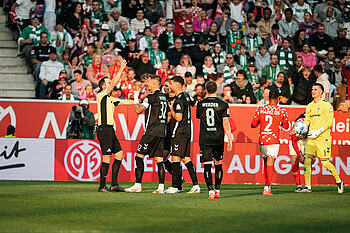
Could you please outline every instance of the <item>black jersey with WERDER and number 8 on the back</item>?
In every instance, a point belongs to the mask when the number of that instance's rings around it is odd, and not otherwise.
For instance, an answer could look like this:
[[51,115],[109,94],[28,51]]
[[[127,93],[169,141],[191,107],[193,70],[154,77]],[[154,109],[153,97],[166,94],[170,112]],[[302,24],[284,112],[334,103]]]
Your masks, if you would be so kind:
[[199,144],[224,144],[223,118],[230,118],[228,103],[216,97],[208,97],[198,102],[196,118],[200,119]]

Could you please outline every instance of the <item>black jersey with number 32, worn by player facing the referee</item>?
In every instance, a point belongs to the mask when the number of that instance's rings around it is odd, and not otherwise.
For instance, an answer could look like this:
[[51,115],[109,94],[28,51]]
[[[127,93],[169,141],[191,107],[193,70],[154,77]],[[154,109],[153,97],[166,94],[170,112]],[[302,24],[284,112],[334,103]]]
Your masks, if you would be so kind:
[[165,126],[168,118],[168,102],[164,93],[155,91],[142,102],[145,111],[146,135],[165,137]]

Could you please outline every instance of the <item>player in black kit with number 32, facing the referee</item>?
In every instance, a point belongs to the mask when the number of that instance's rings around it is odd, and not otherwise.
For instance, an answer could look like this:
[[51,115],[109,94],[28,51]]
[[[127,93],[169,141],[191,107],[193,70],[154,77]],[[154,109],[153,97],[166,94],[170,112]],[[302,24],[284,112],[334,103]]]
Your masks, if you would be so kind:
[[153,193],[164,193],[165,170],[163,162],[165,126],[169,112],[166,96],[160,91],[161,78],[158,75],[150,75],[148,79],[148,90],[151,94],[140,104],[139,93],[135,92],[134,104],[136,114],[145,112],[145,134],[142,136],[136,153],[136,183],[125,189],[126,192],[142,192],[141,182],[144,172],[143,158],[149,155],[154,158],[158,167],[159,186]]

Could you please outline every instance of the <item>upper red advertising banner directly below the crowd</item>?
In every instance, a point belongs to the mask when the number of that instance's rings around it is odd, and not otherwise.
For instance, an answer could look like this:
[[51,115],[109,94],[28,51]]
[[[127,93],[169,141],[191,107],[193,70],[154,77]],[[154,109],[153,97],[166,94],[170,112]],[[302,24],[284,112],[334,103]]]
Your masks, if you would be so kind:
[[[66,135],[68,115],[76,103],[44,101],[0,101],[0,136],[6,134],[9,124],[16,127],[16,136],[23,138],[58,138]],[[234,132],[235,142],[257,143],[259,129],[250,128],[256,105],[230,106],[231,118],[237,125]],[[96,114],[96,102],[90,103],[90,111]],[[196,108],[192,108],[193,138],[198,141],[199,126],[195,119]],[[305,111],[302,107],[287,107],[292,122]],[[119,105],[115,110],[115,128],[119,140],[137,141],[144,133],[144,115],[136,115],[133,105]],[[331,128],[334,145],[350,145],[350,114],[335,112]],[[282,143],[286,144],[289,132],[281,134]]]

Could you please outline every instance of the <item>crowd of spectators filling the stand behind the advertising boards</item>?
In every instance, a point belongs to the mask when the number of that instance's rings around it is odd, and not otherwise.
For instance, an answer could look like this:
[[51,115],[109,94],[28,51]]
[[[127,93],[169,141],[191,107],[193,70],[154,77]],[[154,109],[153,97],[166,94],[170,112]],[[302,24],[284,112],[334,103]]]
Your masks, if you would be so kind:
[[[9,25],[33,68],[36,97],[95,100],[98,80],[128,67],[112,95],[147,93],[148,74],[179,75],[204,97],[214,80],[229,103],[305,105],[350,99],[350,3],[346,0],[16,0]],[[44,6],[44,7],[43,7]]]

